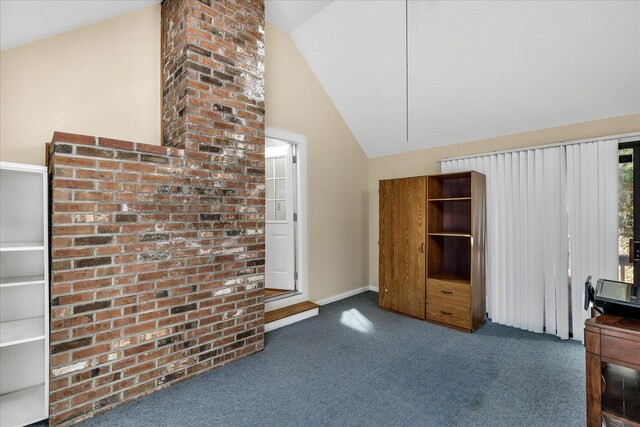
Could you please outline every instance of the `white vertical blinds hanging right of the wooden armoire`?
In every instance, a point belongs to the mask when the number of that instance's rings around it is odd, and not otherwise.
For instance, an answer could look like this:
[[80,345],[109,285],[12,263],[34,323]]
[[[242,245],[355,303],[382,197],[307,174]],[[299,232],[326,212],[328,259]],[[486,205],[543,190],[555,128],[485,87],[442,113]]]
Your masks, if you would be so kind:
[[617,154],[609,140],[441,162],[487,177],[494,322],[582,339],[585,278],[616,278]]

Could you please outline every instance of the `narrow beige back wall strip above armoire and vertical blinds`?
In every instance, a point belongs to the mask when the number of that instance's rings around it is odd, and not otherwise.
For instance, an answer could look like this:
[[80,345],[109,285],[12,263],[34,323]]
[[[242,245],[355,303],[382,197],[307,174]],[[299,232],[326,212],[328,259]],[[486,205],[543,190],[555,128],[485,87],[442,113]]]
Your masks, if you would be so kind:
[[446,157],[638,131],[640,114],[634,114],[369,159],[369,283],[378,286],[378,181],[381,179],[439,173],[438,161]]

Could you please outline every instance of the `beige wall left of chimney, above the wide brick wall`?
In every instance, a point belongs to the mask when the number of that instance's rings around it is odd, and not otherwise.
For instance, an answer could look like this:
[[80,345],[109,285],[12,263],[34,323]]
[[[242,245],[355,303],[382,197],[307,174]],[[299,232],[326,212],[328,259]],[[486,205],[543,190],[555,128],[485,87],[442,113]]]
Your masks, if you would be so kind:
[[0,53],[0,160],[56,130],[160,144],[160,5]]

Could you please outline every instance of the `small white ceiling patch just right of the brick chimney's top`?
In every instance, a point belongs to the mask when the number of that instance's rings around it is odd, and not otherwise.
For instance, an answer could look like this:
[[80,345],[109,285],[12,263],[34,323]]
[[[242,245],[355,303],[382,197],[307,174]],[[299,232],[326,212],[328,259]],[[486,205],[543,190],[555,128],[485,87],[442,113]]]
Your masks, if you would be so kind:
[[267,0],[266,20],[290,33],[333,0]]

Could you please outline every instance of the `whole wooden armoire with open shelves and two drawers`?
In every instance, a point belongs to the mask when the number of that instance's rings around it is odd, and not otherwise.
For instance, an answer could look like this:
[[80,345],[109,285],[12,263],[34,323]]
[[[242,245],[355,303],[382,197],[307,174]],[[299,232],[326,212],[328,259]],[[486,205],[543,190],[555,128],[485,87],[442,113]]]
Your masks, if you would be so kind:
[[380,181],[379,305],[472,332],[486,315],[485,176]]

